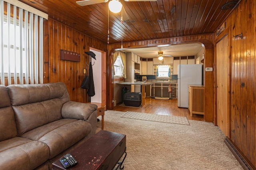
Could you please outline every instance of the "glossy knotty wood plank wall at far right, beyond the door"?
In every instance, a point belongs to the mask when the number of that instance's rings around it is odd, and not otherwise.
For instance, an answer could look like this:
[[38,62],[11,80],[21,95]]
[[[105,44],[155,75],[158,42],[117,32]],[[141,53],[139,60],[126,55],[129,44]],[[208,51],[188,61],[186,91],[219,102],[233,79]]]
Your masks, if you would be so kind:
[[[255,21],[255,0],[242,0],[225,21],[226,27],[231,28],[230,140],[254,168],[256,167]],[[243,39],[233,37],[240,33]]]

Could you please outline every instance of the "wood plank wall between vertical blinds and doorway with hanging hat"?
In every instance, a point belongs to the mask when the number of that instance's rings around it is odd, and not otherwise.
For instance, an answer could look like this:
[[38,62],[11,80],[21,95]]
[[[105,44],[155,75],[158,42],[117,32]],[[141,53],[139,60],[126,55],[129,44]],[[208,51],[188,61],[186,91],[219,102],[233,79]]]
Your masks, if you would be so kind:
[[[107,51],[107,44],[90,38],[72,27],[49,18],[44,21],[44,83],[64,82],[68,88],[70,100],[88,102],[87,90],[80,88],[84,78],[84,69],[89,63],[90,47]],[[81,61],[60,60],[60,49],[80,53]]]

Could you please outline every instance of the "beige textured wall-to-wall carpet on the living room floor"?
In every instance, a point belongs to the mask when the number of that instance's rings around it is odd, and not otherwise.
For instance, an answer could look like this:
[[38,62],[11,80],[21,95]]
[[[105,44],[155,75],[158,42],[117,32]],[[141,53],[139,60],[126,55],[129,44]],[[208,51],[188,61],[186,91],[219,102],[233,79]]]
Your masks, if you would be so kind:
[[189,120],[188,126],[120,117],[123,114],[106,111],[104,130],[126,135],[124,170],[242,170],[224,143],[225,135],[212,123]]

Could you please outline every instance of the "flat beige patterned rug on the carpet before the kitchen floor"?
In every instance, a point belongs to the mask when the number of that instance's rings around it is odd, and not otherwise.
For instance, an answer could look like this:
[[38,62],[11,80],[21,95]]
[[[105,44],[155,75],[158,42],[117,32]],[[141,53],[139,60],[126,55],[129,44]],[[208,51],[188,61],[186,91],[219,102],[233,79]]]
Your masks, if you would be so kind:
[[157,121],[164,123],[176,123],[182,125],[189,125],[187,117],[170,116],[170,115],[156,115],[150,113],[138,113],[134,111],[126,111],[121,117],[130,119],[140,119],[146,121]]

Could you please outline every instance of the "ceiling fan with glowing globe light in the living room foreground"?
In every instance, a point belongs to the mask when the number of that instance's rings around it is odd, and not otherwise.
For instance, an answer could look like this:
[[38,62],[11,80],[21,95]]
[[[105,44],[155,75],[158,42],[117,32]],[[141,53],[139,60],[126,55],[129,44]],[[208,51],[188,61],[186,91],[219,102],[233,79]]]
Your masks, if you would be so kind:
[[[124,0],[124,1],[156,1],[156,0]],[[124,12],[124,19],[123,20],[128,20],[128,15],[126,14],[120,0],[81,0],[77,1],[76,3],[80,6],[86,6],[86,5],[92,5],[92,4],[99,4],[103,2],[109,2],[108,3],[108,8],[111,12],[118,13],[123,9]]]

